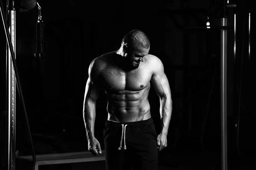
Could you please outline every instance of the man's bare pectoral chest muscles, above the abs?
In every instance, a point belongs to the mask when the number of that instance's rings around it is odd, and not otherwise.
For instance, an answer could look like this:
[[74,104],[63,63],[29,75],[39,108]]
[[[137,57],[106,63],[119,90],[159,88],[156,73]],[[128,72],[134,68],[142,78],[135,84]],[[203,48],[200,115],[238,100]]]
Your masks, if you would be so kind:
[[105,88],[113,91],[140,91],[148,85],[152,76],[149,69],[125,72],[111,68],[103,70],[101,75]]

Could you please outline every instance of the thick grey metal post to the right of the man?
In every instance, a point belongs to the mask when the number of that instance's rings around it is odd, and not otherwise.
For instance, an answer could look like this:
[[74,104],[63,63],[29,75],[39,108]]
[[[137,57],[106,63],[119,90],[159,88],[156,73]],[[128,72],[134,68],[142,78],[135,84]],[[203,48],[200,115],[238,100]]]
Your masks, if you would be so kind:
[[[227,26],[227,17],[221,26]],[[221,170],[227,170],[227,29],[221,29]]]

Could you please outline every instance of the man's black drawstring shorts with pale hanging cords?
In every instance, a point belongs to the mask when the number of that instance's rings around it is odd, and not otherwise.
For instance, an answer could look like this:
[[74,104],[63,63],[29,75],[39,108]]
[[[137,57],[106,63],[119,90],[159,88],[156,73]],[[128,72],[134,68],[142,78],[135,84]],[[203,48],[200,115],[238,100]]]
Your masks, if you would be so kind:
[[104,127],[106,170],[157,170],[157,133],[153,119]]

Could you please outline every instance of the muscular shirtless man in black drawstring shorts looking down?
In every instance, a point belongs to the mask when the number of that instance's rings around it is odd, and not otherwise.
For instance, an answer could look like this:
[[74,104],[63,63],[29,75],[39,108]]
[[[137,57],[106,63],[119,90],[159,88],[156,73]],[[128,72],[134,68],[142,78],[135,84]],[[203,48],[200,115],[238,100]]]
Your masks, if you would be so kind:
[[[104,88],[108,98],[108,120],[104,127],[107,170],[157,170],[158,150],[167,146],[172,114],[169,82],[163,64],[148,54],[146,34],[133,30],[122,39],[117,51],[93,59],[84,94],[84,124],[88,150],[102,153],[94,136],[96,100]],[[161,131],[157,135],[151,118],[150,81],[160,97]]]

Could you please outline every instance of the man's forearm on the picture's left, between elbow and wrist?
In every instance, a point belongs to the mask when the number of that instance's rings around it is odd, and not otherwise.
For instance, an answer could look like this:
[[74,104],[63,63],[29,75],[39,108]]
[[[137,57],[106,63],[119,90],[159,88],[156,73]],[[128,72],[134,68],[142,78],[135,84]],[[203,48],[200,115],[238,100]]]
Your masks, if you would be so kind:
[[84,104],[84,125],[87,133],[87,140],[90,140],[94,137],[94,124],[96,118],[96,109],[95,102],[86,101]]

